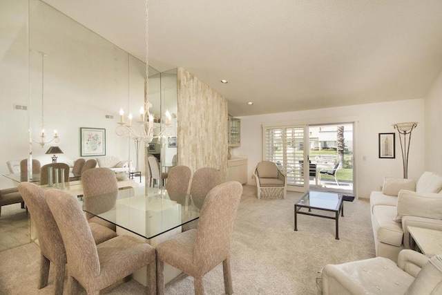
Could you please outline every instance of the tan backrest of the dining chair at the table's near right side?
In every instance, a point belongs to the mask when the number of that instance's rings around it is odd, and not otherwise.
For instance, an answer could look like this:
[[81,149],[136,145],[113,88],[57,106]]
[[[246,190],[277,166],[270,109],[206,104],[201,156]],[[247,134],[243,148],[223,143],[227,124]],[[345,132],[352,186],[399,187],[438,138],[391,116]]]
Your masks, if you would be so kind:
[[219,184],[207,194],[193,252],[193,263],[202,269],[212,269],[230,255],[233,221],[241,195],[242,185],[236,181]]

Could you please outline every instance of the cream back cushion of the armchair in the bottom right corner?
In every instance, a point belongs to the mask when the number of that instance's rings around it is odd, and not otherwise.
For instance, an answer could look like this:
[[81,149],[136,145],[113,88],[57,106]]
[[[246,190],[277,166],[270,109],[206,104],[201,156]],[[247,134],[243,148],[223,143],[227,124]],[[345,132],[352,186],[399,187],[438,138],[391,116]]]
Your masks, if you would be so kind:
[[425,263],[406,294],[442,294],[442,255],[433,256]]

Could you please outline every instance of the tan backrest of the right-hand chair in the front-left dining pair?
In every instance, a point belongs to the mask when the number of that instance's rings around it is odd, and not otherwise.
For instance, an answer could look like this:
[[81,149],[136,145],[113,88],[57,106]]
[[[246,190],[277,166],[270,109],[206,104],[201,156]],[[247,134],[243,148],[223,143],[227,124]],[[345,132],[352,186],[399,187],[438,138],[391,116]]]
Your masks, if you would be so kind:
[[63,239],[69,274],[77,280],[99,276],[97,246],[77,198],[59,189],[49,189],[45,195]]

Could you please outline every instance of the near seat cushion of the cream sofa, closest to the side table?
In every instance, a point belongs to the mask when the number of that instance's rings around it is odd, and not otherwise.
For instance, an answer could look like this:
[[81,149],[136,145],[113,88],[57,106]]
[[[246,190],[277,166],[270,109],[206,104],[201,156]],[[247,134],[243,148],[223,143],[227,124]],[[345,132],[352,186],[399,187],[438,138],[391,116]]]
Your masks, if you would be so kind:
[[373,207],[372,227],[377,240],[401,247],[403,230],[401,223],[394,222],[396,207],[377,205]]

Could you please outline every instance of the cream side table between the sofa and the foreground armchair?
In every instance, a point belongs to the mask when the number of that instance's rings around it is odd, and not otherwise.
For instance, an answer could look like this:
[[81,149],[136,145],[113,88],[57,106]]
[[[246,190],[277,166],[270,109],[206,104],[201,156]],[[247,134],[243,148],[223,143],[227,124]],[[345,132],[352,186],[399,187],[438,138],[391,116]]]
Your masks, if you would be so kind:
[[442,231],[423,229],[421,227],[407,227],[410,232],[410,248],[419,249],[428,257],[442,253]]

